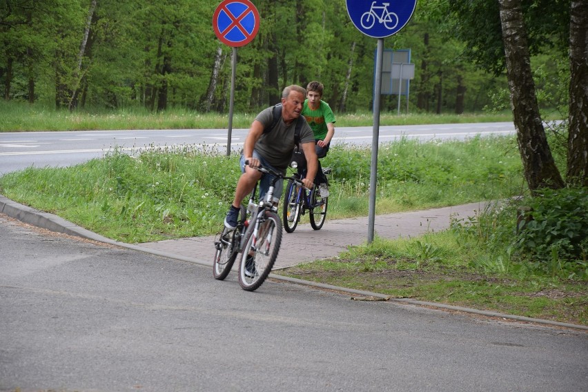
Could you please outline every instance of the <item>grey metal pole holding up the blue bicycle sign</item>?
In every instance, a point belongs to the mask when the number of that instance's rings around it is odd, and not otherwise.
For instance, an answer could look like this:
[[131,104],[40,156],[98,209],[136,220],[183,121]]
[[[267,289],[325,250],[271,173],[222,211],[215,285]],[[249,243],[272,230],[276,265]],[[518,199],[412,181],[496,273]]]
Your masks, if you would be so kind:
[[373,136],[371,141],[371,169],[369,176],[369,217],[368,244],[373,242],[373,226],[375,223],[375,186],[378,174],[378,137],[380,135],[380,97],[382,92],[382,56],[384,39],[378,38],[378,50],[375,55],[375,86],[373,97]]

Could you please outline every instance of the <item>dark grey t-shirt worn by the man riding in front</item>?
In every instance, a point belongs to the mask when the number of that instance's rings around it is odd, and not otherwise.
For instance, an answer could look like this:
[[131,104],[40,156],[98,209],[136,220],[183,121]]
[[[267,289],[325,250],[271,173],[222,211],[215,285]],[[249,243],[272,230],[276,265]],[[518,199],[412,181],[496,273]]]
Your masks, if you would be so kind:
[[[255,117],[257,121],[262,123],[264,129],[271,126],[273,115],[273,106],[262,110],[262,112]],[[304,117],[302,117],[304,118]],[[255,143],[255,150],[259,155],[262,155],[264,159],[268,161],[271,166],[286,170],[292,159],[292,152],[294,150],[294,132],[296,128],[295,119],[289,126],[284,123],[284,118],[280,116],[280,121],[277,121],[275,127],[268,133],[264,133],[257,143]],[[300,129],[300,143],[314,142],[315,136],[311,126],[304,121],[302,128]]]

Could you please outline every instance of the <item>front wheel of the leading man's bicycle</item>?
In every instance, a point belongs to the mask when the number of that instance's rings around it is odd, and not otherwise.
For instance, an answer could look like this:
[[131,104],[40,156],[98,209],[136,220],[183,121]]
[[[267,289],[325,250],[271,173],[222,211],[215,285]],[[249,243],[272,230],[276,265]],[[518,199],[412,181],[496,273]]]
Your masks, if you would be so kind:
[[[252,222],[253,224],[253,222]],[[239,284],[246,291],[255,291],[268,277],[277,253],[280,251],[282,244],[282,222],[280,215],[272,211],[264,211],[264,222],[259,224],[259,237],[255,244],[255,237],[251,235],[247,244],[243,248],[241,262],[239,262]],[[253,274],[252,268],[247,268],[248,256],[253,255]]]

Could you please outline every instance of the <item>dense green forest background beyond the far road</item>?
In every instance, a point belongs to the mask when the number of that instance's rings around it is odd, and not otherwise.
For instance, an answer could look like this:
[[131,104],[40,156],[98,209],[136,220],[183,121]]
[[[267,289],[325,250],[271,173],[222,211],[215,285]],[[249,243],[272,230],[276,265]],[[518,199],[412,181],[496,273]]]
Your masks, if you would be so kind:
[[[274,104],[282,88],[320,80],[336,112],[371,110],[377,40],[358,31],[344,0],[253,0],[261,23],[237,49],[235,110]],[[420,0],[408,25],[384,39],[386,49],[410,49],[415,79],[409,110],[473,112],[508,108],[504,67],[481,64],[456,28],[452,1]],[[457,2],[459,3],[459,2]],[[569,1],[568,1],[569,3]],[[182,107],[228,110],[232,48],[215,36],[219,1],[0,0],[0,80],[3,99],[56,108]],[[483,14],[481,45],[501,49],[497,21]],[[554,21],[566,23],[565,21]],[[500,21],[498,21],[500,23]],[[567,22],[569,23],[569,22]],[[495,23],[496,24],[496,23]],[[486,30],[486,29],[489,30]],[[498,24],[500,34],[500,24]],[[497,49],[499,48],[499,49]],[[559,59],[566,48],[536,52],[533,70],[542,106],[565,99]],[[545,54],[547,52],[547,54]],[[500,54],[500,53],[499,53]],[[402,108],[406,104],[402,97]],[[398,97],[382,97],[396,110]]]

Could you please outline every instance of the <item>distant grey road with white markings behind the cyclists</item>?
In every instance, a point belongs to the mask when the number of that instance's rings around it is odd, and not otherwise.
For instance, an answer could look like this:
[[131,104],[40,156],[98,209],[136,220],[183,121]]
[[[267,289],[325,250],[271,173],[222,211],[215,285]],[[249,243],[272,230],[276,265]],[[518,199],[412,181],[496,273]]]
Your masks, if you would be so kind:
[[[240,150],[248,129],[233,129],[231,149]],[[380,126],[381,143],[407,137],[431,139],[467,139],[476,135],[510,135],[511,122],[476,124],[440,124]],[[334,144],[371,144],[372,126],[337,127]],[[90,130],[68,132],[0,133],[0,175],[29,166],[71,166],[102,157],[114,148],[124,151],[150,146],[213,146],[226,151],[227,131],[222,129],[185,130]]]

